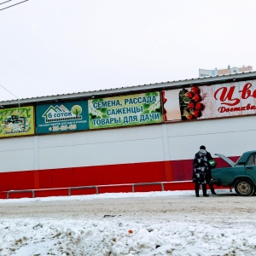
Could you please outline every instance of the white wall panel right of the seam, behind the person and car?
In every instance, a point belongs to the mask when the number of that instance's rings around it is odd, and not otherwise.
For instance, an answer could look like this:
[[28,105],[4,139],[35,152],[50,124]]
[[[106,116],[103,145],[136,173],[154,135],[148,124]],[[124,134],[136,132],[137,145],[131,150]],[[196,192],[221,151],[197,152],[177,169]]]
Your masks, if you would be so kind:
[[256,118],[244,116],[168,124],[171,160],[193,159],[201,145],[212,154],[239,156],[256,148]]

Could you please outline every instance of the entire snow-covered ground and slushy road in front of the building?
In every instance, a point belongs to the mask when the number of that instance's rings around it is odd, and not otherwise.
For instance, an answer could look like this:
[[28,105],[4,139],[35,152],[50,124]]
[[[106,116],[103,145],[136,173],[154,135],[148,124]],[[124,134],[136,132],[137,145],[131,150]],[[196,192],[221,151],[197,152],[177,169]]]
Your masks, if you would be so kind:
[[256,255],[256,197],[217,193],[0,200],[0,255]]

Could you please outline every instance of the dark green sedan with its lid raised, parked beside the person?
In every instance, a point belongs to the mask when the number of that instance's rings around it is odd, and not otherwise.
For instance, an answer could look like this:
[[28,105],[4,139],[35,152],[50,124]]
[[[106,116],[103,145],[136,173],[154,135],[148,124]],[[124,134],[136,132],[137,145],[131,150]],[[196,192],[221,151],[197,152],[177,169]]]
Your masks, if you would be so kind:
[[256,189],[256,150],[245,152],[236,163],[223,154],[216,155],[226,161],[229,167],[213,169],[211,183],[234,187],[237,195],[253,195]]

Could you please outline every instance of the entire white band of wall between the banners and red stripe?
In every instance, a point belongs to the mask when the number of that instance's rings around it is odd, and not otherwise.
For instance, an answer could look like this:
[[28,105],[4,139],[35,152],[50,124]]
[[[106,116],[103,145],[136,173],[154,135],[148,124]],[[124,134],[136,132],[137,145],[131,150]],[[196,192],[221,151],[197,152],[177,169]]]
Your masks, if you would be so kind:
[[255,149],[256,118],[196,120],[1,140],[0,172],[193,159],[203,144],[239,156]]

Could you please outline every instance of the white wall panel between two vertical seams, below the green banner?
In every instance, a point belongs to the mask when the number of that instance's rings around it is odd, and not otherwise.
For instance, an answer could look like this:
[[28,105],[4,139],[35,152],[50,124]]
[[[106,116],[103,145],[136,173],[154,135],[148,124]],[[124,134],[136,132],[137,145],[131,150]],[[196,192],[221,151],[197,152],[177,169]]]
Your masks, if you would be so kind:
[[163,160],[160,125],[38,137],[39,169]]

